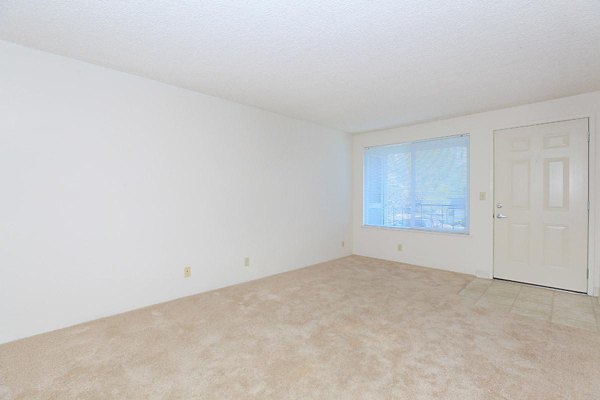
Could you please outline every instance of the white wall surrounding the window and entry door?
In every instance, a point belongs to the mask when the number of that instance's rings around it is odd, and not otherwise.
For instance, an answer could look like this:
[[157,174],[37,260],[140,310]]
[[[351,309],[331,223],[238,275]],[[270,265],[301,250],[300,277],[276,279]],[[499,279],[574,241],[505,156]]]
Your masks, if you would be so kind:
[[[502,109],[443,121],[414,126],[369,132],[355,135],[354,171],[354,253],[416,265],[449,269],[482,277],[493,273],[493,131],[570,118],[589,117],[591,122],[590,145],[590,293],[598,294],[600,273],[596,254],[599,247],[594,238],[600,238],[600,225],[595,224],[600,212],[599,163],[600,92],[566,97],[553,101]],[[391,144],[416,139],[448,136],[459,133],[471,134],[471,233],[452,235],[367,228],[362,226],[362,154],[364,147]],[[479,192],[486,192],[487,199],[479,200]],[[403,250],[397,250],[397,244]]]

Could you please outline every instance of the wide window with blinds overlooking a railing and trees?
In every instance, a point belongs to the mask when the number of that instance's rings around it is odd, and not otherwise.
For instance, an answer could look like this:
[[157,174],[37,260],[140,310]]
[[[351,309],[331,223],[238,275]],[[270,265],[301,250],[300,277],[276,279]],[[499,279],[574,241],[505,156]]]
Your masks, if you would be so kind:
[[469,232],[469,136],[369,147],[363,223]]

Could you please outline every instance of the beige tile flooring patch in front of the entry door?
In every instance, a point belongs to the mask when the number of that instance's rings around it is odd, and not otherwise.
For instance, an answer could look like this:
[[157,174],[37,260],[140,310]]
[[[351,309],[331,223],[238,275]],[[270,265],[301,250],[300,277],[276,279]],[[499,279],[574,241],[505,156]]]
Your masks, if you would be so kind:
[[481,307],[600,332],[600,303],[595,297],[480,278],[459,294]]

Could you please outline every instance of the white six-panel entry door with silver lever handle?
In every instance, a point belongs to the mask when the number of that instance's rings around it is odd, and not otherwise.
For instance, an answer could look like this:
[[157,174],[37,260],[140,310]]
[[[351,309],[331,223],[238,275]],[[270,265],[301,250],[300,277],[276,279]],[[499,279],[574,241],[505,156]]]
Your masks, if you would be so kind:
[[587,291],[588,119],[494,132],[494,277]]

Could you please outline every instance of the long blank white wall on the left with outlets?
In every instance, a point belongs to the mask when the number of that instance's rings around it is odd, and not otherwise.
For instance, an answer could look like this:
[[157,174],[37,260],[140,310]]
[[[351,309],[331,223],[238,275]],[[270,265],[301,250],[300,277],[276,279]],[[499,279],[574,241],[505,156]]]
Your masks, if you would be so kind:
[[350,253],[347,134],[6,42],[0,60],[0,342]]

